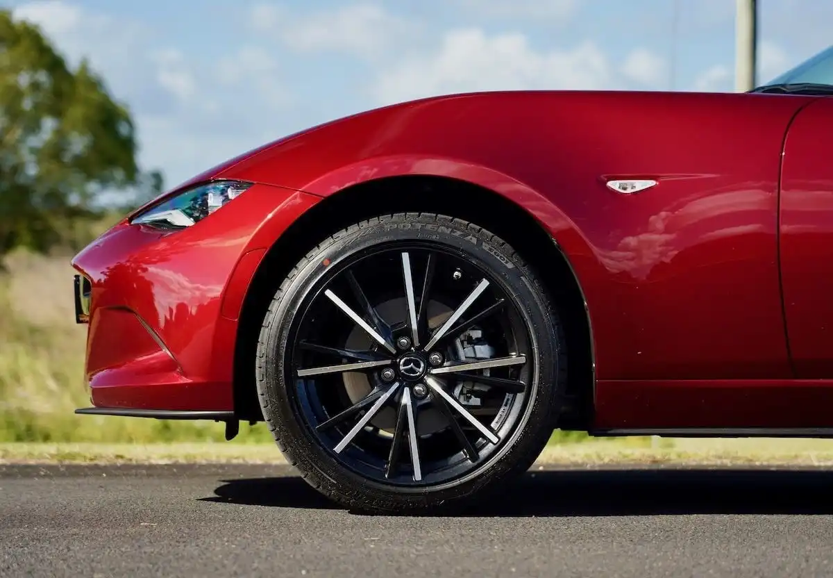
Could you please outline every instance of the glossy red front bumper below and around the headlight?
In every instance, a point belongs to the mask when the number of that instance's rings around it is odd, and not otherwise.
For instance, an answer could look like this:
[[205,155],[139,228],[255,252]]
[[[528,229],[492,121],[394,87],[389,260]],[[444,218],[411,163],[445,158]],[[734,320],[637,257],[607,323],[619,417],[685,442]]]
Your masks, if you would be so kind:
[[252,275],[318,200],[255,185],[189,229],[122,222],[77,254],[92,405],[233,411],[237,319]]

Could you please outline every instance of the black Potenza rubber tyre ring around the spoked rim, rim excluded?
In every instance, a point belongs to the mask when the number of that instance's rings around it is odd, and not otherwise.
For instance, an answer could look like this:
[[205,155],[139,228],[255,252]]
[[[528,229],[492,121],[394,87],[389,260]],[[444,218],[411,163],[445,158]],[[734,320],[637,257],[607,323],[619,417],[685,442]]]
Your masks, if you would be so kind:
[[[313,291],[322,289],[346,259],[382,244],[417,242],[441,244],[462,259],[491,273],[515,301],[529,332],[534,373],[527,387],[530,396],[509,440],[489,457],[486,465],[456,480],[434,486],[394,486],[370,480],[346,466],[324,447],[301,415],[288,379],[297,316]],[[372,219],[333,235],[298,264],[278,292],[265,319],[258,345],[257,389],[264,418],[283,452],[307,475],[307,481],[325,494],[354,507],[407,510],[432,505],[453,505],[468,495],[486,490],[516,470],[526,470],[546,445],[554,426],[560,398],[557,319],[541,285],[511,248],[494,235],[465,222],[437,215],[397,214]],[[287,349],[288,348],[288,349]]]

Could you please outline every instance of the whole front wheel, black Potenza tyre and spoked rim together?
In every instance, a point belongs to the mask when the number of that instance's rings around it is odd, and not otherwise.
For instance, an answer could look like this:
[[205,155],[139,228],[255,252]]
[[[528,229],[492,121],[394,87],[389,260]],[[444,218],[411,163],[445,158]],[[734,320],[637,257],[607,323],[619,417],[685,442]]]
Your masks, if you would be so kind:
[[257,392],[277,445],[322,494],[366,513],[447,513],[540,455],[564,344],[508,244],[444,215],[384,215],[324,239],[283,280],[257,344]]

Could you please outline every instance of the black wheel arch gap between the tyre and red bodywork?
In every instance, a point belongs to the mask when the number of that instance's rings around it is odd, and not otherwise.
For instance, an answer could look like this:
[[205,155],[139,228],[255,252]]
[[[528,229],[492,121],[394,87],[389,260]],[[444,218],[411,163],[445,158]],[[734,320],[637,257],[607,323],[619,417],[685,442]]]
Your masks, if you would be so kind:
[[[313,187],[317,188],[317,187]],[[513,197],[519,196],[518,189]],[[318,194],[321,194],[320,188]],[[322,195],[323,196],[323,195]],[[263,315],[277,284],[322,237],[377,214],[431,211],[476,223],[511,244],[536,271],[554,299],[566,332],[568,410],[563,429],[586,430],[594,399],[595,354],[591,319],[581,284],[566,251],[541,224],[541,212],[557,209],[537,194],[522,191],[538,215],[481,184],[447,176],[406,174],[373,178],[329,194],[278,238],[258,265],[243,300],[234,359],[234,407],[242,420],[261,420],[254,382],[254,350]],[[541,201],[546,203],[545,206]],[[552,222],[552,219],[551,219]],[[566,219],[559,217],[559,224]],[[551,229],[551,227],[550,227]]]

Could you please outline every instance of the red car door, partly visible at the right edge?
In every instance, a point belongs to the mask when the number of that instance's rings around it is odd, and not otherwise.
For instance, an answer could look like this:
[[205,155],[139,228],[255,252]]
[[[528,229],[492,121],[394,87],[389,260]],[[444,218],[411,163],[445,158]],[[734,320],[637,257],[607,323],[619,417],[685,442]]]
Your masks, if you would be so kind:
[[[791,97],[779,97],[791,98]],[[781,284],[800,379],[833,379],[833,98],[796,115],[781,172]]]

